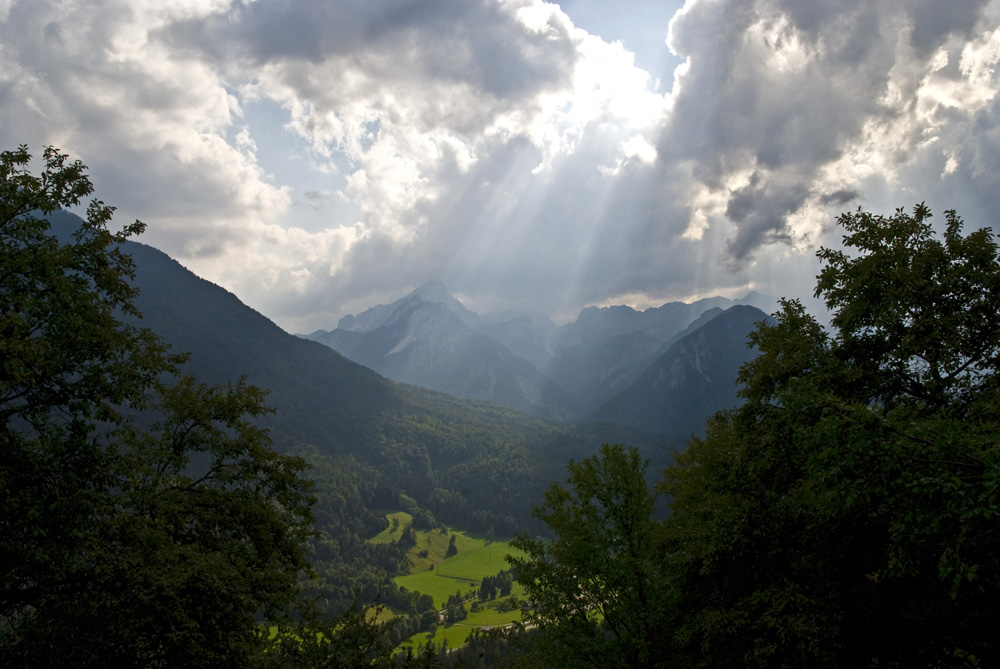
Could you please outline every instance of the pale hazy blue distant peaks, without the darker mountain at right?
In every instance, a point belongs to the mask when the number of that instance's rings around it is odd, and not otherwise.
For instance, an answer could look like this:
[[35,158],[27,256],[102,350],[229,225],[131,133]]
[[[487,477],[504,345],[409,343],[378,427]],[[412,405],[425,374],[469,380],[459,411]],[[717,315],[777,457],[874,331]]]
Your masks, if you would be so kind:
[[[390,304],[345,316],[335,330],[304,337],[395,381],[499,402],[549,420],[615,420],[606,404],[678,339],[734,306],[753,309],[759,321],[766,314],[755,307],[771,311],[776,303],[751,292],[739,300],[711,297],[644,311],[588,307],[576,321],[556,326],[537,315],[480,316],[432,281]],[[715,345],[739,349],[730,356],[739,358],[752,329],[742,339],[717,338]],[[702,421],[723,408],[719,401],[697,412]],[[630,424],[670,431],[656,421]]]

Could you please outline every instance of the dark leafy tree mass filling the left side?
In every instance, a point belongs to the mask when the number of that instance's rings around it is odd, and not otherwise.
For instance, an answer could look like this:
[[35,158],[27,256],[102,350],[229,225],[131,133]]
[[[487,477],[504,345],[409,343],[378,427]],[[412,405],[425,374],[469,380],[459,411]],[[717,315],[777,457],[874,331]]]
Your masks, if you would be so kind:
[[263,391],[173,384],[131,322],[114,209],[53,148],[0,153],[0,653],[24,666],[246,664],[296,604],[304,462],[271,448]]

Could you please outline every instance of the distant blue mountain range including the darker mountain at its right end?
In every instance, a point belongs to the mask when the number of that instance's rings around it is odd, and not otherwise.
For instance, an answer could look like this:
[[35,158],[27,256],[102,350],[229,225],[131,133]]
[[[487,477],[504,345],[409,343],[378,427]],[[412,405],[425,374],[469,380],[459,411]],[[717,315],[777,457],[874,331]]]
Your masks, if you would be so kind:
[[537,315],[480,316],[432,281],[300,336],[395,381],[548,420],[682,434],[736,403],[736,372],[752,357],[747,335],[767,317],[760,308],[775,304],[751,292],[645,311],[590,307],[556,326]]

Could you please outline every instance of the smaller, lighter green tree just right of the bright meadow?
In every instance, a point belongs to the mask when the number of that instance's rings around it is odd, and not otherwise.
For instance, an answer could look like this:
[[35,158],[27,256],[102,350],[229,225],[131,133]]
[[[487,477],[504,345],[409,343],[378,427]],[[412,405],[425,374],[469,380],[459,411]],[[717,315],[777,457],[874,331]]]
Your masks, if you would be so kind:
[[665,641],[648,463],[618,444],[569,464],[534,510],[552,541],[516,537],[508,557],[533,610],[525,622],[553,640],[553,665],[655,667]]

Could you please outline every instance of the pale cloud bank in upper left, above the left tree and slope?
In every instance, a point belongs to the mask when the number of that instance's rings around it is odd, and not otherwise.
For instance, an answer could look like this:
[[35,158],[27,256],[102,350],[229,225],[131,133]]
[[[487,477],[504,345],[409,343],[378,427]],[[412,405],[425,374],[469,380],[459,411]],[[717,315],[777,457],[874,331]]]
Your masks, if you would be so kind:
[[0,124],[7,145],[81,157],[123,214],[165,222],[189,236],[172,251],[202,257],[245,243],[288,193],[257,165],[219,73],[148,39],[193,9],[14,3],[0,24]]

